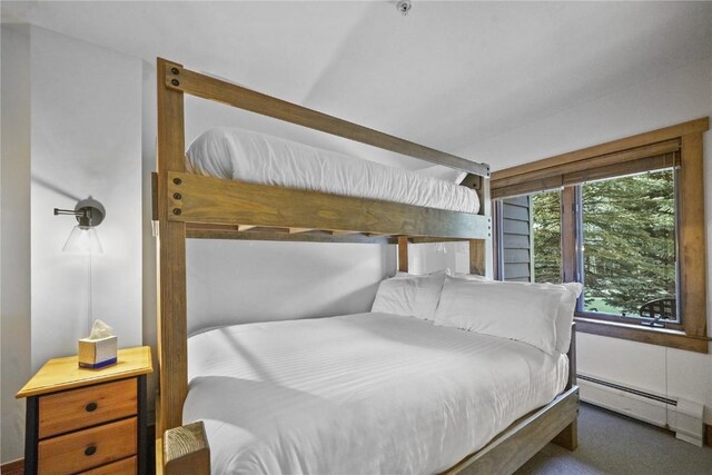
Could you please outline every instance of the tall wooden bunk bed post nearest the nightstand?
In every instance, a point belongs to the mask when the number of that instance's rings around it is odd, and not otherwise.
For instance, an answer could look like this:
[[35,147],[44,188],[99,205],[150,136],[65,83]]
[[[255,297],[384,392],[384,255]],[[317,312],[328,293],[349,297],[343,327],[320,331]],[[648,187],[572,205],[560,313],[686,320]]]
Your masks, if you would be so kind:
[[158,364],[157,434],[182,425],[188,392],[186,308],[186,225],[169,221],[168,171],[185,171],[184,93],[166,87],[167,68],[158,59]]

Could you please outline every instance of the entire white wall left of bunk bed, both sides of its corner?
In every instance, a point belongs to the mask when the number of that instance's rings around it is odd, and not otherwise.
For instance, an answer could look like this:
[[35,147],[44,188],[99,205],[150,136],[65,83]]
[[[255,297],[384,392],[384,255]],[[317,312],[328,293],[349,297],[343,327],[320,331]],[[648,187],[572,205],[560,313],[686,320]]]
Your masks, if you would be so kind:
[[120,346],[141,344],[141,61],[3,24],[2,80],[4,463],[23,456],[24,404],[14,394],[87,334],[87,260],[61,253],[76,221],[52,208],[89,196],[105,206],[93,313]]

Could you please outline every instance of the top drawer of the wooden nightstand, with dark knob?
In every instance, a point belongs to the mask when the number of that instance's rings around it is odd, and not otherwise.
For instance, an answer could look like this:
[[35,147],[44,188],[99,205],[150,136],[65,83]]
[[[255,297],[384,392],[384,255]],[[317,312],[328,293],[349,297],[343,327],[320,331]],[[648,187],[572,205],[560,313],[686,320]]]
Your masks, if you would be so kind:
[[39,407],[40,438],[132,416],[137,413],[136,379],[41,396]]

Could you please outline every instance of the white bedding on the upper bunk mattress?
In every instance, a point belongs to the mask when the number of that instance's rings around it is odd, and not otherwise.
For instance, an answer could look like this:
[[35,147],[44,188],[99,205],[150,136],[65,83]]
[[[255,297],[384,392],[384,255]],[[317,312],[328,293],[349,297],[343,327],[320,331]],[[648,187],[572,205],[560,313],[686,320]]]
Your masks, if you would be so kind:
[[476,214],[477,194],[459,185],[334,151],[220,127],[198,136],[186,152],[194,172],[334,195]]

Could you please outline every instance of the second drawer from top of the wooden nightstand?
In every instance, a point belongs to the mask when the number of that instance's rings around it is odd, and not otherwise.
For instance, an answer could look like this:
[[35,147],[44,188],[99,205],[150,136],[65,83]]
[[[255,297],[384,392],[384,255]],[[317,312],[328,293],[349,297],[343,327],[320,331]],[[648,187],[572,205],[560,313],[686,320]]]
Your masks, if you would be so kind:
[[40,441],[40,474],[69,474],[132,456],[137,452],[136,417]]

